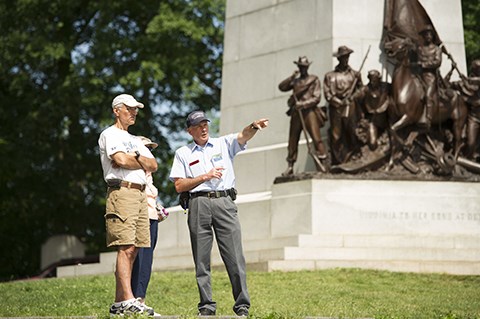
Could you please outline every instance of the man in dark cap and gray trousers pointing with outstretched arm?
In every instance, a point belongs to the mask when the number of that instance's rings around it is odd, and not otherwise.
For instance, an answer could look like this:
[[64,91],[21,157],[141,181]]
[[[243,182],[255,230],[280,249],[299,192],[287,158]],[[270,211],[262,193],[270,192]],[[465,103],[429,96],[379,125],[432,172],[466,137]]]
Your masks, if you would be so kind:
[[[210,255],[213,233],[232,285],[237,316],[248,316],[250,296],[247,290],[245,258],[240,221],[235,205],[233,158],[244,150],[258,130],[268,126],[267,119],[247,125],[241,132],[211,138],[208,120],[202,111],[187,117],[187,132],[193,142],[175,152],[170,180],[178,193],[186,193],[188,229],[192,245],[195,275],[200,293],[198,312],[214,316],[217,304],[212,298]],[[186,208],[186,205],[183,205]]]

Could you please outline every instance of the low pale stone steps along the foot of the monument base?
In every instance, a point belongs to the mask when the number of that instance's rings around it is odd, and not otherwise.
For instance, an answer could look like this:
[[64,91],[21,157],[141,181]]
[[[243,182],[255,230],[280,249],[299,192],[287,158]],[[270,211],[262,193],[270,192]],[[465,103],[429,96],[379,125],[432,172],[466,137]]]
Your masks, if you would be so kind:
[[[480,269],[479,246],[478,236],[299,235],[245,241],[244,252],[249,269],[263,271],[359,267],[475,274]],[[115,252],[101,253],[99,263],[59,267],[57,276],[112,273],[115,261]],[[154,270],[193,269],[193,266],[189,246],[158,246],[155,251]],[[223,267],[216,243],[212,249],[212,267]]]

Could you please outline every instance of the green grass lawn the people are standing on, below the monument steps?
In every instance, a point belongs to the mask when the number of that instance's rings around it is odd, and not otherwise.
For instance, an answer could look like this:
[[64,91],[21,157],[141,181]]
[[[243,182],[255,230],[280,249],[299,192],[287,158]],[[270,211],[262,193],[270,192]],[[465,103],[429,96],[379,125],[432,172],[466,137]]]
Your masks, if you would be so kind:
[[[228,276],[213,271],[218,316],[233,316]],[[480,276],[332,269],[249,272],[252,318],[476,318]],[[0,317],[108,317],[112,275],[0,283]],[[155,272],[147,304],[162,315],[194,317],[198,292],[193,272]]]

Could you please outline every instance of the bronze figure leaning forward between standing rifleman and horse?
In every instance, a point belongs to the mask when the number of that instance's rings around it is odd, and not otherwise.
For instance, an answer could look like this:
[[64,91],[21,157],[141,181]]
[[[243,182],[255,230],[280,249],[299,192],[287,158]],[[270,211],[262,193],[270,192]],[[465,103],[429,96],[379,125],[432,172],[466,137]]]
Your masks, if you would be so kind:
[[383,82],[379,71],[368,72],[368,84],[359,89],[355,100],[362,108],[366,120],[366,143],[371,150],[378,146],[379,134],[388,128],[387,109],[392,103],[390,83]]

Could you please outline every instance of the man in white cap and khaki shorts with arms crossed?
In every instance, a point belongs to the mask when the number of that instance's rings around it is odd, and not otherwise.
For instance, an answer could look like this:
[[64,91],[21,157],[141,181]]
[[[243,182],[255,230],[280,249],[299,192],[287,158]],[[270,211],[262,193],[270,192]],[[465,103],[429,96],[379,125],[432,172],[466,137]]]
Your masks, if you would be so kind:
[[132,265],[139,247],[150,247],[145,171],[157,162],[142,141],[128,132],[143,104],[129,94],[113,99],[115,123],[98,139],[103,176],[108,185],[105,223],[107,247],[117,248],[115,302],[111,315],[147,313],[132,293]]

